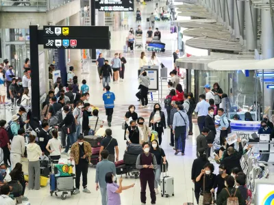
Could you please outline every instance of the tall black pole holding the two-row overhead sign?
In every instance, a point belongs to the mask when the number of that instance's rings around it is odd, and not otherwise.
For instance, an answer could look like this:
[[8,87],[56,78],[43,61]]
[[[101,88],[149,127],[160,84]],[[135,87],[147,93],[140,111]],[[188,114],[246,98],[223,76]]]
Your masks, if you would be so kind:
[[[29,50],[32,59],[32,117],[40,120],[40,80],[39,80],[39,60],[38,60],[38,27],[29,26]],[[35,79],[35,80],[34,80]]]

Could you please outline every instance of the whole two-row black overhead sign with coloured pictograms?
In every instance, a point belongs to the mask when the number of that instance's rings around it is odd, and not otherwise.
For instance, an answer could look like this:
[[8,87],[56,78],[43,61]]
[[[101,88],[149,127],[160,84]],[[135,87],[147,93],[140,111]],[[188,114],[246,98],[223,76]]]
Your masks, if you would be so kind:
[[109,49],[109,27],[45,26],[42,31],[44,49]]

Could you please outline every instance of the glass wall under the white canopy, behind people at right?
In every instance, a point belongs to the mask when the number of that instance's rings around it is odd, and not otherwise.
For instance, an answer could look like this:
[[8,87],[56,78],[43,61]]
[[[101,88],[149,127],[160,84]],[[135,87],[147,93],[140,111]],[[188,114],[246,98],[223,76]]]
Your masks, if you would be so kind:
[[[223,93],[227,94],[227,100],[222,100],[222,102],[224,102],[223,106],[225,106],[230,119],[237,113],[242,120],[245,120],[245,113],[247,112],[251,113],[253,120],[256,120],[257,116],[262,117],[262,113],[260,114],[262,89],[260,80],[256,79],[255,70],[250,70],[248,73],[245,73],[245,70],[189,71],[191,73],[191,86],[188,87],[188,89],[190,89],[188,92],[195,94],[196,100],[199,100],[200,94],[205,94],[205,90],[203,89],[204,85],[209,84],[213,88],[214,83],[219,83]],[[258,107],[256,107],[255,104],[257,104]]]

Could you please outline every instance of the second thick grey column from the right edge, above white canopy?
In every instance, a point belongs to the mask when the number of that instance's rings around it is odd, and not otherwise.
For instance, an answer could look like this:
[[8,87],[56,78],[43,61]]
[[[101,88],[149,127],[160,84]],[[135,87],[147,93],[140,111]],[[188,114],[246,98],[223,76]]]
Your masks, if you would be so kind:
[[245,2],[245,38],[247,40],[247,50],[254,51],[257,47],[258,33],[258,10],[250,8],[249,1]]

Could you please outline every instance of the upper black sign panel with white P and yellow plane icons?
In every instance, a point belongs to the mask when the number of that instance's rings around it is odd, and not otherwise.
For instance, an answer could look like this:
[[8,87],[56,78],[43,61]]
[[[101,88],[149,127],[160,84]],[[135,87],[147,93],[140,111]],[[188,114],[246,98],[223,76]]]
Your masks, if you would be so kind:
[[44,26],[45,37],[109,38],[109,27]]

